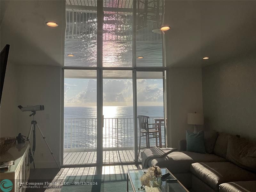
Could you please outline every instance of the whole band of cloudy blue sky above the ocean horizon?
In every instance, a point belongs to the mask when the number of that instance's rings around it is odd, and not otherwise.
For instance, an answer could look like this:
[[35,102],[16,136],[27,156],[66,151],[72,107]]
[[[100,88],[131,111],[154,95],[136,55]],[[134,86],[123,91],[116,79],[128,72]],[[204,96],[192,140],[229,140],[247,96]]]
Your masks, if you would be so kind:
[[[96,106],[96,79],[65,78],[64,106]],[[163,80],[137,80],[138,106],[163,106]],[[132,106],[132,79],[103,79],[103,106]]]

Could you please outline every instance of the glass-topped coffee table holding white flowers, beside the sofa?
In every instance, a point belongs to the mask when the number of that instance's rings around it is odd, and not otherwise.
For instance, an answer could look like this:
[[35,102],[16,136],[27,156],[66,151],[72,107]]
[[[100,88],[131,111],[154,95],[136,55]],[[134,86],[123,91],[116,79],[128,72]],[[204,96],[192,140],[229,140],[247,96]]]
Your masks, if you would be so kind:
[[[150,192],[150,191],[157,191],[157,192],[189,192],[179,180],[172,181],[172,182],[165,182],[158,188],[145,188],[146,190],[141,189],[140,177],[147,172],[148,169],[134,169],[134,170],[127,170],[127,192],[129,192],[129,180],[132,185],[133,192]],[[162,175],[166,173],[170,173],[170,175],[166,179],[176,179],[173,174],[166,168],[161,168]]]

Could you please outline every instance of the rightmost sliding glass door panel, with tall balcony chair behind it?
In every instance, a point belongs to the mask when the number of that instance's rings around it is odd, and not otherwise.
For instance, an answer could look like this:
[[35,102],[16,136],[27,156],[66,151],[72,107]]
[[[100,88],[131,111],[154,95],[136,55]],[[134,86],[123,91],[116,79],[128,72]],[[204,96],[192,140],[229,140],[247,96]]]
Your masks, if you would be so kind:
[[[146,147],[164,147],[164,84],[162,71],[138,71],[137,72],[137,114],[147,116],[149,128],[158,130],[158,138],[138,138],[140,151]],[[140,125],[138,126],[140,133]],[[147,146],[148,145],[148,146]],[[139,154],[140,155],[140,154]],[[141,156],[139,156],[139,159]]]

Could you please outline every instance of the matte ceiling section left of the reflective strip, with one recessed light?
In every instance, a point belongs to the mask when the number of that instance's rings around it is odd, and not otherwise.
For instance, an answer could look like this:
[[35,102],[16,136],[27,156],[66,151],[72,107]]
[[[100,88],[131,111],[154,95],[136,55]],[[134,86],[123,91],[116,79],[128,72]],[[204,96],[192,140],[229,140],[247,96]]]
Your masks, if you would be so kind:
[[[10,44],[8,62],[18,65],[64,65],[65,1],[14,1],[2,7],[1,49]],[[2,16],[2,14],[1,14]],[[57,28],[45,25],[55,21]]]

